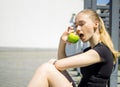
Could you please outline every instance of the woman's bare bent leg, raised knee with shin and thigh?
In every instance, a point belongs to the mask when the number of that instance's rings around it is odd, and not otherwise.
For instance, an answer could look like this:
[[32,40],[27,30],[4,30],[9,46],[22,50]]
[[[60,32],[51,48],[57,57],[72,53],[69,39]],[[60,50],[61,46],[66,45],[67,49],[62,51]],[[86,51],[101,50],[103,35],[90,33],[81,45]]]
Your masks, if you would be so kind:
[[28,87],[73,87],[67,78],[59,72],[54,65],[45,63],[41,65]]

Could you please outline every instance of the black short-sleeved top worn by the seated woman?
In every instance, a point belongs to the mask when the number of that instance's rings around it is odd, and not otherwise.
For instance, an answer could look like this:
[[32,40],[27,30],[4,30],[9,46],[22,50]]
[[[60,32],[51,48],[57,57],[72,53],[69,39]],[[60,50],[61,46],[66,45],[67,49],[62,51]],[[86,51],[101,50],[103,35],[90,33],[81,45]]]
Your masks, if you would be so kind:
[[[84,52],[90,50],[88,47]],[[98,43],[94,48],[101,59],[100,63],[96,63],[87,67],[82,67],[82,79],[78,87],[106,87],[113,69],[113,55],[109,48],[103,43]]]

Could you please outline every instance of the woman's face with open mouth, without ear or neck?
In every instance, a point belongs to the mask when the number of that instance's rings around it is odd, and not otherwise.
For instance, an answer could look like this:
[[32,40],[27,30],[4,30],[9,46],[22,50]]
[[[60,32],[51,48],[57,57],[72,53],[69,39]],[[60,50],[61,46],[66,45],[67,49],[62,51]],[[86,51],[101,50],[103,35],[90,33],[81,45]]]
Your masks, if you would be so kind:
[[89,15],[80,13],[75,19],[76,33],[83,42],[89,41],[94,35],[95,23],[90,19]]

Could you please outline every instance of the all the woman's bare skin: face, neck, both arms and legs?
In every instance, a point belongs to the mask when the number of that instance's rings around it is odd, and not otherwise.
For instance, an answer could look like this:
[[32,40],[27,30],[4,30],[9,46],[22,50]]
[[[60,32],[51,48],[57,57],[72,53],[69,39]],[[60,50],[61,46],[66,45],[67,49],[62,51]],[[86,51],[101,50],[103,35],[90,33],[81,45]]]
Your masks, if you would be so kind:
[[[80,13],[75,19],[76,33],[83,42],[89,41],[90,46],[94,47],[100,42],[100,33],[98,29],[99,23],[92,21],[89,15]],[[75,87],[72,86],[71,77],[67,74],[67,78],[62,74],[68,68],[84,67],[94,63],[101,62],[101,58],[95,50],[89,50],[85,53],[78,54],[66,58],[65,45],[68,34],[73,32],[73,28],[69,27],[65,31],[59,43],[58,60],[53,65],[55,59],[51,59],[48,63],[41,65],[35,72],[28,87]],[[66,72],[64,73],[66,74]]]

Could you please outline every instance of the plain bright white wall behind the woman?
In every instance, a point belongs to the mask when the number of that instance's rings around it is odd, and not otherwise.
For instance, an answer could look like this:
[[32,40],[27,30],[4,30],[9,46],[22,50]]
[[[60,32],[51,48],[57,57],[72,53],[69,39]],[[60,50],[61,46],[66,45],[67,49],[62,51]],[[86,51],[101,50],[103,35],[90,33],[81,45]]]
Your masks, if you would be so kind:
[[57,48],[83,0],[0,0],[0,47]]

